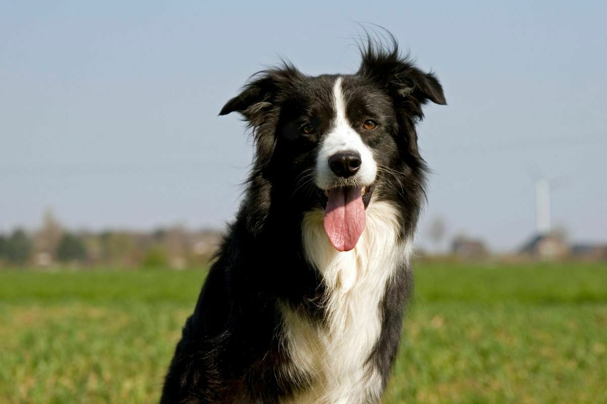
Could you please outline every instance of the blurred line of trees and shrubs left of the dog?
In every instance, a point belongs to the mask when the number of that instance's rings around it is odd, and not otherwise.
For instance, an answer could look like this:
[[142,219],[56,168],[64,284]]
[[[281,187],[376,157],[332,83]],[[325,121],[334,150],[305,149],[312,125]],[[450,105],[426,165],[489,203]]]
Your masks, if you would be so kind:
[[181,226],[153,232],[69,231],[51,211],[38,230],[0,234],[0,267],[157,267],[181,269],[205,265],[220,234]]

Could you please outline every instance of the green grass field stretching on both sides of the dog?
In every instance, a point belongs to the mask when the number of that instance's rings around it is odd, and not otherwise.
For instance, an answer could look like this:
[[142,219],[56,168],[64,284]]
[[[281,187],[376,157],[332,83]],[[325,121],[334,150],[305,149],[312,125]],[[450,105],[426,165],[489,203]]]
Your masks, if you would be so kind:
[[[0,271],[0,403],[157,401],[204,277]],[[607,265],[418,265],[384,403],[607,403]]]

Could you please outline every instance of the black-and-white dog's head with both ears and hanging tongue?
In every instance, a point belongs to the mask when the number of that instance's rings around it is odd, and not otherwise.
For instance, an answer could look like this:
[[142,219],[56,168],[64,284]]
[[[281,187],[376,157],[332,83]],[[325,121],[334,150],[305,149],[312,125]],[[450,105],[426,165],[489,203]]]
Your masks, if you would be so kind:
[[[354,75],[303,75],[292,65],[262,71],[228,101],[253,129],[253,177],[274,202],[300,212],[321,208],[338,251],[354,248],[373,200],[419,199],[424,161],[415,124],[443,89],[393,49],[369,45]],[[401,204],[402,205],[402,204]]]

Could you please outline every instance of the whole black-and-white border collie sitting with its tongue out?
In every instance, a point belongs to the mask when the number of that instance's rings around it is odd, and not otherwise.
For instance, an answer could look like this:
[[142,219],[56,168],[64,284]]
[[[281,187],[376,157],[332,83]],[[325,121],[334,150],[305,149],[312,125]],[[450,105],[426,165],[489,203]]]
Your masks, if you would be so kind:
[[256,154],[161,403],[378,403],[412,291],[433,73],[368,39],[353,75],[257,73],[239,112]]

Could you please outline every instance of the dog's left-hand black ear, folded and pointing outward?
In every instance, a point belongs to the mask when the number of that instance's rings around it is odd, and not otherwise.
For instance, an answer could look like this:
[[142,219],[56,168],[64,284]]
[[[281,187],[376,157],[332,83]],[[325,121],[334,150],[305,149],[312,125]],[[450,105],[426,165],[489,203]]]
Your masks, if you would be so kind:
[[258,125],[263,112],[277,104],[280,91],[300,76],[301,73],[286,62],[281,67],[260,71],[251,77],[240,94],[226,102],[219,114],[237,111],[250,124]]

